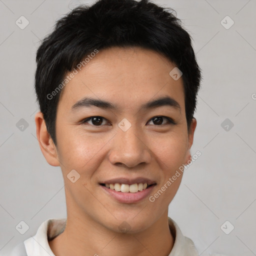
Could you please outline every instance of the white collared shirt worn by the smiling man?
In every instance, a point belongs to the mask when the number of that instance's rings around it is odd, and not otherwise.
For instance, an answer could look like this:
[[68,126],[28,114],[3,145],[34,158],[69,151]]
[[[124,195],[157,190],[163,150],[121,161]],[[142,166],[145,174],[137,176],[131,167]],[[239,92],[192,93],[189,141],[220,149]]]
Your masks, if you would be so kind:
[[[192,240],[183,236],[176,222],[168,217],[169,229],[174,244],[168,256],[198,256]],[[65,229],[66,218],[48,218],[41,223],[34,236],[17,244],[9,256],[55,256],[48,240],[55,238]]]

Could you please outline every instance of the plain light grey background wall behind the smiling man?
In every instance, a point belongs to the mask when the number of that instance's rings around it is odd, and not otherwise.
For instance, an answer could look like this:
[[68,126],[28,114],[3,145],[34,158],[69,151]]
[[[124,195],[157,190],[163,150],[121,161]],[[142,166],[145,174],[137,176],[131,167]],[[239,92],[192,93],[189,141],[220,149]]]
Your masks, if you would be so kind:
[[[47,218],[66,216],[61,170],[48,165],[35,135],[35,52],[59,17],[89,2],[0,0],[0,255]],[[256,255],[256,1],[154,2],[176,10],[203,72],[191,148],[201,156],[185,170],[169,216],[200,255]],[[15,24],[21,15],[29,21],[24,29]],[[226,15],[234,21],[228,29]],[[229,130],[221,126],[226,118]],[[21,220],[29,226],[24,234],[15,229]],[[229,234],[220,228],[226,220],[225,231],[234,226]]]

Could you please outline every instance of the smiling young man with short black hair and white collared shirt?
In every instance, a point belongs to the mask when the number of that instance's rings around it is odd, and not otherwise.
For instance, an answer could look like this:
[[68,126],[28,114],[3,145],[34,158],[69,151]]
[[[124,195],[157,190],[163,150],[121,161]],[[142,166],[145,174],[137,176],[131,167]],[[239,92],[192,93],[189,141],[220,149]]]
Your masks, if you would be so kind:
[[45,220],[12,255],[198,255],[168,217],[201,79],[180,20],[146,0],[81,5],[36,62],[36,134],[61,167],[67,218]]

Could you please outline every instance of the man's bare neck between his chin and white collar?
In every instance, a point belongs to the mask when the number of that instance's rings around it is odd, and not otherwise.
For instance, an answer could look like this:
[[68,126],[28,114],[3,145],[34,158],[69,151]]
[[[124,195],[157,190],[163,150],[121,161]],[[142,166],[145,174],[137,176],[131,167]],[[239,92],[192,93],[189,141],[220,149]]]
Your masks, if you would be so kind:
[[49,241],[56,256],[168,256],[173,247],[167,210],[149,228],[136,233],[114,232],[74,212],[67,212],[64,231]]

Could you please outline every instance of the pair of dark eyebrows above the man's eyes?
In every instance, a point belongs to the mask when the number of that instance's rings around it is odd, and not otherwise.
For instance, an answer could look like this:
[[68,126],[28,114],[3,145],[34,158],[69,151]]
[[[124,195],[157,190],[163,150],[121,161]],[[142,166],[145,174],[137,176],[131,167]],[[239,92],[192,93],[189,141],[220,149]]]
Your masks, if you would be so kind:
[[[76,109],[78,110],[83,107],[92,107],[92,106],[97,106],[102,109],[112,109],[112,110],[119,109],[119,107],[112,104],[111,102],[108,102],[102,99],[84,97],[78,100],[74,105],[72,105],[71,110],[74,111]],[[140,110],[146,110],[146,109],[156,108],[160,106],[169,106],[171,108],[178,109],[179,111],[181,111],[179,103],[174,98],[171,98],[169,96],[163,96],[151,101],[147,101],[146,103],[140,106]]]

